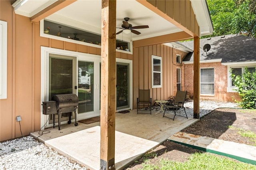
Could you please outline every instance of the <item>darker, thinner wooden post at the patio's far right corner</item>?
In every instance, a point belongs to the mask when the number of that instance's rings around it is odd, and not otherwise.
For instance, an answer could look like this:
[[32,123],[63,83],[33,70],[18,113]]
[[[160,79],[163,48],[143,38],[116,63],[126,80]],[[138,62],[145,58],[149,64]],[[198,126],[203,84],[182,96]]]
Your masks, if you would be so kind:
[[200,56],[199,56],[199,45],[200,45],[200,38],[194,37],[194,119],[199,119],[199,73],[200,73]]

